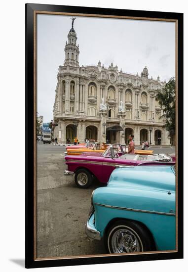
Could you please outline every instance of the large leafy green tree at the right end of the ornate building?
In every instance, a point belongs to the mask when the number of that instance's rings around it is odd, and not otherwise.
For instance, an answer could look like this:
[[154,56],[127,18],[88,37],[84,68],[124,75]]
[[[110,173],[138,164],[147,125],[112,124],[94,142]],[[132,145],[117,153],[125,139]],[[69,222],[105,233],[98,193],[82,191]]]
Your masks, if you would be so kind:
[[163,115],[160,118],[166,118],[165,128],[170,133],[175,132],[176,128],[176,81],[171,78],[165,84],[162,91],[156,94],[156,100],[159,102],[163,110]]

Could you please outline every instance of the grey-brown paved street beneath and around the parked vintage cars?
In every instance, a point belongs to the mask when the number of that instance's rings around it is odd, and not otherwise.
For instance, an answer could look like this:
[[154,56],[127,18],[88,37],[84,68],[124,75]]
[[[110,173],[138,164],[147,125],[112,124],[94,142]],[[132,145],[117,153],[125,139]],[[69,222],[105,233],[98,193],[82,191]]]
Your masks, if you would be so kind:
[[[140,149],[140,146],[136,147]],[[175,153],[175,147],[150,147],[154,153]],[[90,239],[84,231],[92,191],[76,187],[66,178],[65,146],[37,144],[37,257],[103,254],[101,241]]]

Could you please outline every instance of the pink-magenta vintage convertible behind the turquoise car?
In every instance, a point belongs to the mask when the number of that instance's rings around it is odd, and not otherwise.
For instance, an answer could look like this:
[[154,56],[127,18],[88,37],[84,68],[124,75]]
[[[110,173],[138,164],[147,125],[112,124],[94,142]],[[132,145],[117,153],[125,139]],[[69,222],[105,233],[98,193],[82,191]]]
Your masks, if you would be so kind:
[[[115,146],[115,147],[114,147]],[[75,174],[75,183],[79,188],[89,187],[94,178],[107,183],[116,167],[134,167],[136,165],[174,165],[175,156],[165,154],[135,155],[125,154],[119,144],[111,145],[101,156],[68,155],[65,157],[68,170],[66,176]]]

